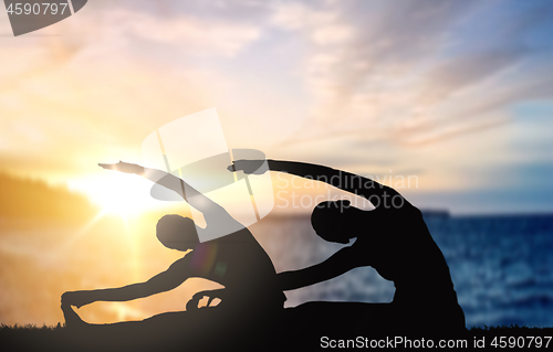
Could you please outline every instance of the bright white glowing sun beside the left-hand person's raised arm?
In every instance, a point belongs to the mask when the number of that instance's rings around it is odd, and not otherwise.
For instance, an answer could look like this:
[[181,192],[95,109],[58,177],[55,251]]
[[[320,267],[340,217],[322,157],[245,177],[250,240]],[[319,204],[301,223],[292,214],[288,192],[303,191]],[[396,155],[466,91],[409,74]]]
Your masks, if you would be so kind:
[[134,174],[112,173],[70,182],[70,188],[84,192],[102,209],[103,214],[137,216],[159,207],[150,195],[153,183]]

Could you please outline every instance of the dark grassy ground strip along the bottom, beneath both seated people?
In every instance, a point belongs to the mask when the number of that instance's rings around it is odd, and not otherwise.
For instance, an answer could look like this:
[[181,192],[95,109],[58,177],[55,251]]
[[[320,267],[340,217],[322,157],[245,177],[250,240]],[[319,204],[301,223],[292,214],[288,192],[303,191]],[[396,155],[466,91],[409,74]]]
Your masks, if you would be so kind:
[[201,335],[171,338],[134,333],[129,335],[94,335],[75,333],[67,328],[7,327],[0,328],[0,351],[316,351],[343,349],[543,349],[553,350],[553,328],[490,327],[472,328],[456,333],[357,333],[333,335],[306,332],[283,334],[241,334],[221,337],[205,331]]

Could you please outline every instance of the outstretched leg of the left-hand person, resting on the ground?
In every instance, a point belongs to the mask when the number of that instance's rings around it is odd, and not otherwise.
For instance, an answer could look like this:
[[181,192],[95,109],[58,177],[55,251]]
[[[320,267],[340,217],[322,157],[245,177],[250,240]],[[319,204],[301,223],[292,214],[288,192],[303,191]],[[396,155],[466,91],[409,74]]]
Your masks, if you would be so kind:
[[260,312],[249,306],[241,309],[212,307],[166,312],[142,321],[94,324],[83,321],[70,306],[62,306],[62,311],[65,326],[75,331],[79,339],[85,337],[92,343],[109,341],[127,350],[138,346],[140,351],[185,345],[191,350],[213,350],[226,344],[251,344],[264,341],[280,318],[273,311]]

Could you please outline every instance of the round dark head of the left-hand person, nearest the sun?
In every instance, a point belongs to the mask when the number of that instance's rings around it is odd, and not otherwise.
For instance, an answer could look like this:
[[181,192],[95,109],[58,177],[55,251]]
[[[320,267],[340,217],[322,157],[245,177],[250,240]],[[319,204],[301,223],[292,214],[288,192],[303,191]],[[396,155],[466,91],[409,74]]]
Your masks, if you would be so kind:
[[156,226],[156,236],[167,248],[182,252],[194,249],[199,244],[194,221],[175,214],[159,218]]

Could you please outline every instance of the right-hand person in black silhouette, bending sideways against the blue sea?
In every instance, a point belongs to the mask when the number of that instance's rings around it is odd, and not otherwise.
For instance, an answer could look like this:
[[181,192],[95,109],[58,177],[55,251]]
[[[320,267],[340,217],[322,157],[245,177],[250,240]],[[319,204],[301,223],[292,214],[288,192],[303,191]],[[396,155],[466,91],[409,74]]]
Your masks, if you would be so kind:
[[[255,173],[261,162],[238,160],[229,170]],[[417,207],[394,189],[357,174],[303,162],[268,160],[268,164],[269,170],[317,180],[363,196],[375,206],[363,211],[349,201],[317,204],[311,223],[319,236],[341,244],[356,239],[317,265],[278,274],[283,290],[328,280],[364,266],[372,266],[396,287],[392,303],[307,302],[296,308],[299,317],[310,317],[311,327],[319,322],[320,331],[330,326],[362,331],[367,327],[379,331],[465,329],[449,267]],[[333,316],[347,319],[331,324]]]

